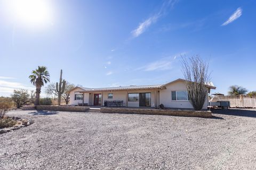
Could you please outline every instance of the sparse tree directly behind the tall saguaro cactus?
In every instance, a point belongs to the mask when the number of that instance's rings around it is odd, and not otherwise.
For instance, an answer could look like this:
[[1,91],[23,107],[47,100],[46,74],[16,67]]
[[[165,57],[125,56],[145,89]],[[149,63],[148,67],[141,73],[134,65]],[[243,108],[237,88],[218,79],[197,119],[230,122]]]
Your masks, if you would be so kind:
[[[70,100],[70,94],[67,94],[67,91],[75,88],[75,84],[69,83],[68,81],[66,81],[66,86],[65,86],[65,90],[64,93],[61,95],[61,97],[63,99],[65,99],[66,101],[66,105],[68,105],[69,100]],[[45,89],[45,92],[47,95],[54,95],[54,100],[55,100],[55,96],[58,96],[58,92],[56,90],[56,84],[55,83],[51,83],[48,84],[48,86]]]

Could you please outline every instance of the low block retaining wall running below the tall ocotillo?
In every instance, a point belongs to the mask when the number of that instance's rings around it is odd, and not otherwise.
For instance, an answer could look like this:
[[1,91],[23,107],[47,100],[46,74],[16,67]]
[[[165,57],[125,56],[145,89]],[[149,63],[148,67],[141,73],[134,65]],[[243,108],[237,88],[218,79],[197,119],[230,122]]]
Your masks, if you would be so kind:
[[101,113],[126,113],[126,114],[148,114],[148,115],[170,115],[188,117],[212,117],[211,111],[173,111],[158,109],[133,109],[133,108],[100,108]]

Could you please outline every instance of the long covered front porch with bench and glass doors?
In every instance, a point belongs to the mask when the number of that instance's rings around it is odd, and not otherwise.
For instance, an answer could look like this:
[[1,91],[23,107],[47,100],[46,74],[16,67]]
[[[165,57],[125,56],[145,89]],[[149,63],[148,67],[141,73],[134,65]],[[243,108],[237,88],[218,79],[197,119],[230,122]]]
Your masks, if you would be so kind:
[[77,105],[93,107],[141,107],[156,108],[159,105],[159,90],[110,90],[110,91],[76,91]]

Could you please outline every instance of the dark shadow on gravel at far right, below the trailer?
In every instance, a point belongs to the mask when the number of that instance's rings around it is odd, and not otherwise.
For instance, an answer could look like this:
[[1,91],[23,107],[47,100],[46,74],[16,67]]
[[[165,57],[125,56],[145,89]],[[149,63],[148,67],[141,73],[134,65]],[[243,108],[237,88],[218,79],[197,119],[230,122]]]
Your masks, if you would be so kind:
[[256,111],[243,110],[243,109],[212,109],[213,114],[222,115],[233,115],[233,116],[245,116],[245,117],[255,117]]

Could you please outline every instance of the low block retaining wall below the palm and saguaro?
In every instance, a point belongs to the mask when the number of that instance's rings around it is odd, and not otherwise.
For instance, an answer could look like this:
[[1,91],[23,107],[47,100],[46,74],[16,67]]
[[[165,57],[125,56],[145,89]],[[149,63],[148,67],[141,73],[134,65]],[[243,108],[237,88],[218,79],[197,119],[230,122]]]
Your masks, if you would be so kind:
[[90,107],[81,106],[52,106],[52,105],[38,105],[38,106],[23,106],[22,110],[34,110],[39,111],[66,111],[66,112],[86,112]]

